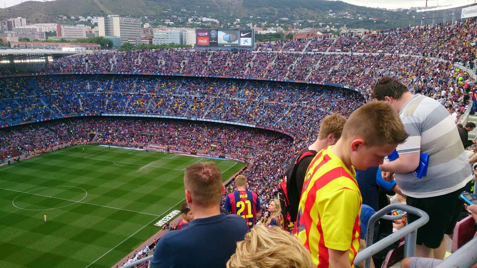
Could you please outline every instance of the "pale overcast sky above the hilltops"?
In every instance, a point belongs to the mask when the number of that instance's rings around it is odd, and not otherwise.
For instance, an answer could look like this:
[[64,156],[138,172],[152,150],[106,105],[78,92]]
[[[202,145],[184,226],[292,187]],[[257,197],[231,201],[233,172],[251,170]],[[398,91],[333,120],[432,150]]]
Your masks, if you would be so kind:
[[[10,7],[16,4],[20,4],[24,2],[24,0],[1,0],[1,8],[3,8],[3,4],[6,7]],[[134,0],[132,0],[134,1]],[[342,0],[344,2],[359,5],[359,6],[366,6],[371,8],[387,8],[387,9],[397,9],[397,8],[411,8],[411,7],[425,7],[425,0]],[[470,0],[473,1],[473,0]],[[457,4],[466,2],[466,0],[428,0],[428,6],[436,6],[437,2],[439,5],[449,5],[449,4]]]

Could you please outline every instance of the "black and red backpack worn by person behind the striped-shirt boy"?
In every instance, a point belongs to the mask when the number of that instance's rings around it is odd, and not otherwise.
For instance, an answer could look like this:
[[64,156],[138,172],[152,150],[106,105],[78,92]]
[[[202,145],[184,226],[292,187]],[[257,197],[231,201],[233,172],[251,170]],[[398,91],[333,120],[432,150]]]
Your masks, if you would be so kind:
[[298,205],[301,197],[301,189],[297,189],[296,185],[298,164],[304,158],[314,157],[315,155],[316,151],[313,150],[304,151],[298,155],[295,161],[288,165],[287,171],[278,185],[281,212],[290,222],[295,222],[297,219]]

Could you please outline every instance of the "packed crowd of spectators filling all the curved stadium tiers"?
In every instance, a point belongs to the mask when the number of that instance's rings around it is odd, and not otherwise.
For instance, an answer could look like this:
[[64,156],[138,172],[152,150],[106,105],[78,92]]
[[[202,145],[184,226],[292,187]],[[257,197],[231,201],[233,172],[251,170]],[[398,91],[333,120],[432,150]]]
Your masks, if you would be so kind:
[[[0,81],[0,125],[76,113],[131,113],[195,117],[262,125],[292,135],[201,121],[92,117],[0,129],[0,149],[45,152],[71,141],[158,144],[247,160],[243,174],[262,213],[276,196],[286,165],[317,138],[330,113],[351,114],[383,76],[446,107],[455,122],[477,85],[453,63],[475,67],[476,21],[261,43],[259,52],[164,49],[72,56],[48,72],[163,72],[331,82],[308,83],[147,75],[47,75]],[[288,53],[293,51],[307,53]],[[321,53],[320,53],[321,52]],[[333,52],[333,53],[322,53]],[[351,53],[338,53],[351,52]],[[391,53],[391,54],[383,54]],[[405,55],[403,55],[405,54]],[[234,189],[233,183],[225,196]]]

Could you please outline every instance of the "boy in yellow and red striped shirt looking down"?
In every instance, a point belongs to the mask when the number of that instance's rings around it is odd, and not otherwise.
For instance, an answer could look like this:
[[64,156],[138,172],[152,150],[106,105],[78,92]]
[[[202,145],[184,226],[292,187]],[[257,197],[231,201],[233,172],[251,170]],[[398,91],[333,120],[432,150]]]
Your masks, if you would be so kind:
[[362,204],[354,167],[364,170],[382,164],[407,137],[391,105],[367,103],[350,115],[336,145],[313,158],[301,192],[295,233],[318,268],[354,267]]

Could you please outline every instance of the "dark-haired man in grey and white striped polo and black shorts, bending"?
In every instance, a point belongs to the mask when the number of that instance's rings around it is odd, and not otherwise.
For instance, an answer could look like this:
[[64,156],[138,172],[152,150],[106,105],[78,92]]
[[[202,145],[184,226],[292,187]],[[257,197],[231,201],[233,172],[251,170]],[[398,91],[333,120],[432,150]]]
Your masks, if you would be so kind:
[[[446,108],[436,100],[412,94],[392,77],[384,77],[373,88],[375,100],[387,101],[399,113],[409,138],[397,146],[399,158],[380,165],[383,177],[394,173],[407,205],[424,210],[429,222],[417,231],[416,256],[443,259],[446,253],[444,234],[452,237],[463,203],[458,195],[472,179],[464,146],[457,127]],[[429,155],[427,176],[421,179],[412,172],[420,153]],[[408,215],[409,222],[417,216]]]

